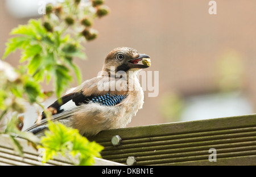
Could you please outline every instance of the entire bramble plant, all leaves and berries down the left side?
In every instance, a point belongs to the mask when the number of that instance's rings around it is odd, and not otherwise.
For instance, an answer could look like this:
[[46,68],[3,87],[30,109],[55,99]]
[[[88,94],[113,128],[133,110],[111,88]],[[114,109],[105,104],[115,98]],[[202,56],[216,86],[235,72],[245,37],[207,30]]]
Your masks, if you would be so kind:
[[[15,36],[6,43],[3,58],[20,49],[22,56],[19,61],[22,64],[18,69],[14,69],[7,62],[0,60],[0,121],[8,113],[12,115],[5,131],[0,133],[10,135],[20,155],[22,147],[15,140],[16,136],[26,138],[33,144],[38,144],[39,139],[31,133],[20,131],[23,127],[23,117],[18,116],[18,113],[25,111],[24,104],[27,102],[44,109],[40,103],[53,92],[60,98],[72,81],[71,71],[75,72],[78,82],[81,83],[81,71],[73,63],[73,58],[86,58],[81,43],[96,39],[97,31],[92,28],[93,20],[108,13],[109,9],[103,0],[87,3],[65,0],[55,6],[48,4],[46,15],[42,18],[30,19],[28,24],[19,25],[10,32]],[[55,91],[44,92],[40,85],[44,81],[53,81]],[[44,111],[47,112],[45,109]],[[39,112],[38,114],[40,117]],[[102,147],[79,136],[77,130],[51,122],[49,128],[51,133],[46,134],[40,146],[46,146],[49,153],[46,159],[51,159],[61,150],[71,150],[72,155],[80,154],[80,165],[91,165],[92,157],[99,157],[98,152]],[[65,136],[67,138],[64,138]],[[72,144],[72,149],[62,148],[63,143]]]

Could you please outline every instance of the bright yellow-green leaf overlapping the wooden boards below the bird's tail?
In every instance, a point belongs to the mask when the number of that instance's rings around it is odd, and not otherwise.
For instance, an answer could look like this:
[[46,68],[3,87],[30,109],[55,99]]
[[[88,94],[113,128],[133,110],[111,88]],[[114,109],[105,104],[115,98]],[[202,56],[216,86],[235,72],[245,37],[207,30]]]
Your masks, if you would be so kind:
[[57,154],[71,154],[79,156],[79,165],[92,165],[94,157],[100,157],[100,151],[104,148],[96,142],[89,142],[81,136],[77,129],[65,127],[65,125],[52,121],[48,124],[49,130],[42,137],[38,148],[46,150],[45,159],[52,159]]

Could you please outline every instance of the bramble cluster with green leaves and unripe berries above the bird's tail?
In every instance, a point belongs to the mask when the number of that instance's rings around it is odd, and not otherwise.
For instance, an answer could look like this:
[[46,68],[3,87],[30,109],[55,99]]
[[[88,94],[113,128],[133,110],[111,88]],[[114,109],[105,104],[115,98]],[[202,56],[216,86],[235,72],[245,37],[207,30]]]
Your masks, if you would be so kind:
[[[81,72],[73,63],[73,58],[85,59],[84,48],[81,43],[97,37],[96,29],[92,29],[93,20],[98,11],[104,9],[108,14],[108,7],[104,2],[94,5],[81,4],[80,1],[64,1],[53,6],[46,6],[46,15],[42,19],[31,19],[28,24],[20,25],[11,31],[12,37],[7,42],[3,58],[16,49],[22,50],[20,62],[26,62],[27,74],[36,82],[53,85],[57,98],[72,81],[70,71],[75,71],[78,82],[81,83]],[[92,4],[94,6],[92,6]]]

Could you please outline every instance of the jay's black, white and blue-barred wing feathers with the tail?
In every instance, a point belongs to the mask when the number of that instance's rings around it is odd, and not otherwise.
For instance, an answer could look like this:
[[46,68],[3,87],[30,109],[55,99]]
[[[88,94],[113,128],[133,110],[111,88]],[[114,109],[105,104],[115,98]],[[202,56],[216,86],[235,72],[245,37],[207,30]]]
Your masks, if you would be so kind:
[[[127,95],[110,95],[109,93],[105,95],[98,96],[85,96],[82,92],[73,92],[71,94],[65,95],[61,98],[61,104],[56,101],[52,103],[48,108],[52,107],[56,109],[56,113],[52,115],[52,120],[60,120],[65,119],[71,115],[71,113],[75,112],[76,109],[79,109],[81,104],[90,104],[90,103],[98,103],[101,106],[115,106],[122,102]],[[40,132],[41,130],[47,128],[47,120],[44,112],[42,113],[42,121],[40,125],[34,125],[31,128],[27,129],[27,131],[32,132],[34,134]]]

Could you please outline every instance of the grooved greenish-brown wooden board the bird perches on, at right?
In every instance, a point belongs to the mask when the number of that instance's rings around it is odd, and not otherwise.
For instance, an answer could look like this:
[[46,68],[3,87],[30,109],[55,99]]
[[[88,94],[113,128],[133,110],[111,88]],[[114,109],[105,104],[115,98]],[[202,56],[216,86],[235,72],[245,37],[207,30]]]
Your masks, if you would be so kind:
[[[113,146],[115,135],[121,145]],[[135,157],[134,165],[256,165],[256,115],[104,130],[89,140],[123,164]]]

